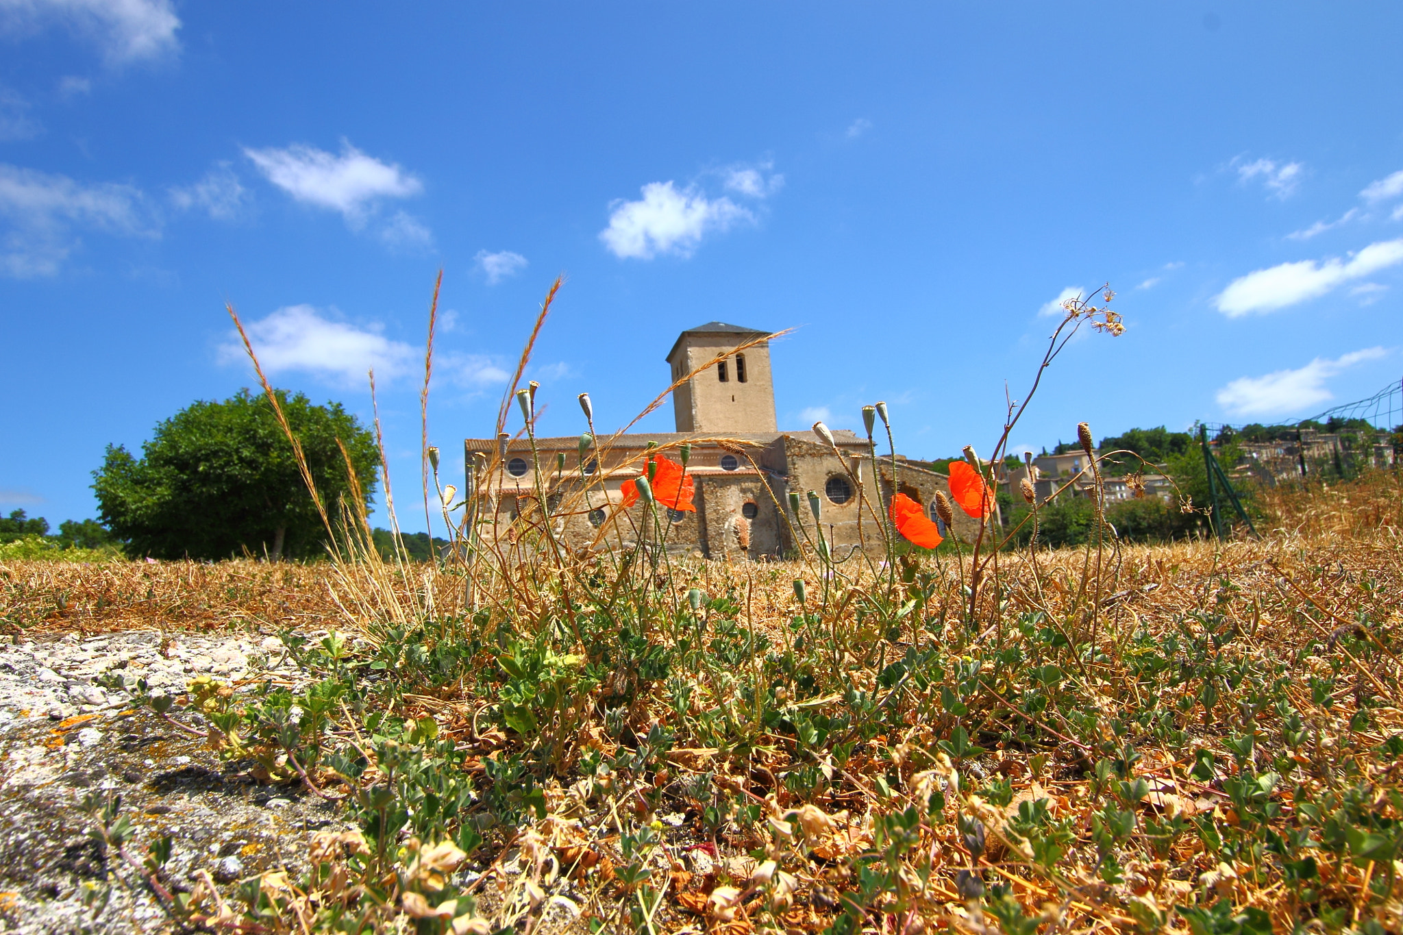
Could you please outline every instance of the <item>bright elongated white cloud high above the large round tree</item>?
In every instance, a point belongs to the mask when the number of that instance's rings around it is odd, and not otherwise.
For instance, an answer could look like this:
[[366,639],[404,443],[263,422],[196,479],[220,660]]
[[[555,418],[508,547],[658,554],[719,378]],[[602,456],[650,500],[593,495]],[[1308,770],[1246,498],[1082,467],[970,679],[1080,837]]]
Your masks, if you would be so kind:
[[244,156],[296,200],[341,212],[355,228],[365,224],[380,199],[410,198],[424,191],[419,179],[398,165],[382,163],[345,142],[340,156],[302,143],[244,149]]

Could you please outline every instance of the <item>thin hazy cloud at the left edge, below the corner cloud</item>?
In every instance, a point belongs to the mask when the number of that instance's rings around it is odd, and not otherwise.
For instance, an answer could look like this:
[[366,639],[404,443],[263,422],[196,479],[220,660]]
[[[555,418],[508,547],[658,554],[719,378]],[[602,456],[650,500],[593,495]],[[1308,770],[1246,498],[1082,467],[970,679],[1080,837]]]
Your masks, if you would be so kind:
[[74,228],[112,234],[160,233],[132,185],[84,185],[0,164],[0,275],[52,276],[76,247]]

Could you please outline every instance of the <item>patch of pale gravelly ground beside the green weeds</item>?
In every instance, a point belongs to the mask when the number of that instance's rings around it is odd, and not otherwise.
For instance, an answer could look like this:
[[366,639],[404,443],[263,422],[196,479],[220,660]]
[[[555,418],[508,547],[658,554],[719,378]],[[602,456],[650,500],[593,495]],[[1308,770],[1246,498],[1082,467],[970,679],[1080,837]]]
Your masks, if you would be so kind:
[[[150,840],[171,835],[166,876],[185,889],[202,869],[229,889],[268,869],[297,873],[310,833],[338,821],[299,786],[255,784],[201,737],[133,711],[125,691],[98,684],[112,670],[171,694],[199,674],[236,684],[265,673],[299,677],[275,636],[250,634],[129,631],[0,645],[0,932],[171,931],[143,880],[88,835],[94,819],[80,803],[93,792],[122,796],[137,861]],[[108,893],[101,911],[84,906],[84,883]]]

